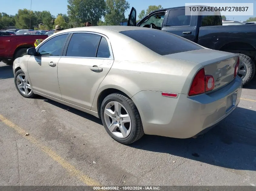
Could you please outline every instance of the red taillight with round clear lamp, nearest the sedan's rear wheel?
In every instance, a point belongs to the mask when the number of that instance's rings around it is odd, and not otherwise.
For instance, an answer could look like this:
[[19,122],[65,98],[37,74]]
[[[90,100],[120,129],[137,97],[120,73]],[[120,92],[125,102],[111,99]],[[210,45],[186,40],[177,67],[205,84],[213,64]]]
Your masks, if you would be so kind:
[[188,95],[203,94],[214,89],[214,78],[212,75],[205,75],[204,68],[200,69],[195,75]]

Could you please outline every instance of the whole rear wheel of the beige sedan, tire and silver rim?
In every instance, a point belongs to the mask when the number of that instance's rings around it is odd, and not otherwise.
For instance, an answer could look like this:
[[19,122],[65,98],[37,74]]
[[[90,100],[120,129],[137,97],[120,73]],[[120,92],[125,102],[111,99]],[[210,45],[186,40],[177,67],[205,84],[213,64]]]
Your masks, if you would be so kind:
[[122,94],[105,97],[101,104],[101,120],[108,134],[122,144],[131,144],[144,135],[135,104]]

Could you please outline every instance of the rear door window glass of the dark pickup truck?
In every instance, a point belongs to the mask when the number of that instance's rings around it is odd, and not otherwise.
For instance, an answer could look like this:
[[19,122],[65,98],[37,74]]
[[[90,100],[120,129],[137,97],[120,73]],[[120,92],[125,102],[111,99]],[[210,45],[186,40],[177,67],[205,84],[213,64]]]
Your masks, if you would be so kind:
[[185,15],[185,9],[171,10],[166,27],[188,26],[191,22],[191,15]]

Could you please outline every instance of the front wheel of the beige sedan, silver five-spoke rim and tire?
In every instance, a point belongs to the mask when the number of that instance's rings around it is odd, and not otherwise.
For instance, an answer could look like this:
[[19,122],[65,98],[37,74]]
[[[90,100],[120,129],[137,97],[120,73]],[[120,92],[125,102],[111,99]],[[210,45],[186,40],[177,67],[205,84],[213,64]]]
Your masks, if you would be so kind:
[[35,96],[29,84],[28,78],[21,69],[15,73],[14,83],[16,89],[23,97],[32,98]]

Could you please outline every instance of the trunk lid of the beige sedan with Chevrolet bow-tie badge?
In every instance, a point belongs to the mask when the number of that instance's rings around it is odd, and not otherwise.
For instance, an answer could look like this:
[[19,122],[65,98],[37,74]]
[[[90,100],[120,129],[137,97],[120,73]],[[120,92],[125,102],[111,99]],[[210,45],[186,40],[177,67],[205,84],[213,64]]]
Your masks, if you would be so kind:
[[172,59],[195,62],[204,66],[206,75],[214,78],[214,90],[224,87],[234,80],[234,69],[238,55],[212,49],[198,49],[165,55]]

